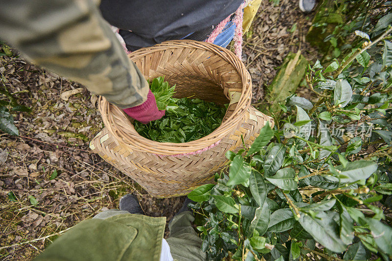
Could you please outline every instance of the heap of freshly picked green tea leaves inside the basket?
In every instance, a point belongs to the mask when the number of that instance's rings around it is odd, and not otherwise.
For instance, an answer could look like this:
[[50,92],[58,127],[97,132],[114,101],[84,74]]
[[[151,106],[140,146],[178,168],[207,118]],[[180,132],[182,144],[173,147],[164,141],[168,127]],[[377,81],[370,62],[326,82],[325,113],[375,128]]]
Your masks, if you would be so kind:
[[151,92],[155,95],[158,109],[166,109],[166,115],[148,124],[135,121],[135,129],[141,136],[156,142],[191,142],[221,125],[225,106],[200,99],[173,98],[174,88],[175,85],[169,86],[163,77],[152,81]]

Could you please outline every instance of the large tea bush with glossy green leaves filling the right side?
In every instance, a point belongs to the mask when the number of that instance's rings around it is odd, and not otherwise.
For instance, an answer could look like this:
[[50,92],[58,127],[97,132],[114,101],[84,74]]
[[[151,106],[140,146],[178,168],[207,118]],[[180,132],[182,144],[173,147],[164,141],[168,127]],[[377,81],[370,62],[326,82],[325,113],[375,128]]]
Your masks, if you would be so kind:
[[273,130],[188,195],[209,260],[392,259],[391,31],[309,65],[318,101],[288,97]]

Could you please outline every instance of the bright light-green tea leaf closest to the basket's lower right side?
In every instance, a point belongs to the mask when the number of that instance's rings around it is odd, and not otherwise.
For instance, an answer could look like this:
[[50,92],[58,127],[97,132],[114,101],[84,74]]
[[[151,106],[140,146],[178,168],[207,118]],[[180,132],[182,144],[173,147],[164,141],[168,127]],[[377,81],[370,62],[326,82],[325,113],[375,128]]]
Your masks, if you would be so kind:
[[244,185],[249,180],[251,170],[252,168],[247,163],[244,163],[244,159],[241,155],[235,156],[233,161],[230,163],[229,181],[226,185]]

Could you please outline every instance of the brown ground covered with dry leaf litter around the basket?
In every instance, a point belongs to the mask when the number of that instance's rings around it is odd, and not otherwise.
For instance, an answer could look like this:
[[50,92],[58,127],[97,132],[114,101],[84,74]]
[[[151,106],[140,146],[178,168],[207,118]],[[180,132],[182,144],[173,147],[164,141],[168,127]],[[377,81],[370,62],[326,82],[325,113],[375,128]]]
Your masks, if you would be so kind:
[[[312,14],[304,15],[297,4],[281,0],[274,6],[264,0],[245,37],[243,60],[254,102],[263,99],[289,52],[301,49],[315,60],[317,52],[305,42]],[[62,100],[60,94],[82,86],[18,57],[0,57],[0,72],[7,89],[32,108],[15,118],[19,137],[0,134],[0,152],[8,152],[0,165],[0,260],[33,259],[61,231],[118,208],[126,193],[138,197],[147,215],[171,220],[184,197],[152,198],[89,150],[88,142],[102,128],[95,95],[84,90]]]

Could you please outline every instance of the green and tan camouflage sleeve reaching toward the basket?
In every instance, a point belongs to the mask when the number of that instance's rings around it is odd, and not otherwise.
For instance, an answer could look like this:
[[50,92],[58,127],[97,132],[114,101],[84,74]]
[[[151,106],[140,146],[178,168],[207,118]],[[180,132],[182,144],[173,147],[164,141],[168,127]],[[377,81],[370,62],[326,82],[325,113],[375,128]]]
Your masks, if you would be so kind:
[[120,108],[147,99],[147,81],[94,0],[0,0],[0,38]]

